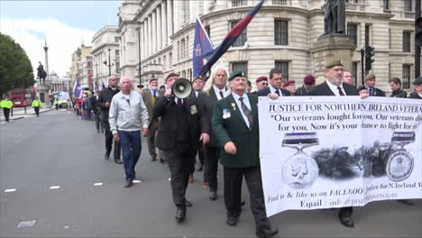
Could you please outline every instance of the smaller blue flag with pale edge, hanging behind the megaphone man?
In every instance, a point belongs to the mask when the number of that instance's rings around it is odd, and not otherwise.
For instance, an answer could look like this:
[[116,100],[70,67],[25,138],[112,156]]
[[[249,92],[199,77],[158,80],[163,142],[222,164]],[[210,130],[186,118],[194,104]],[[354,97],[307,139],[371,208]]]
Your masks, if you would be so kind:
[[212,50],[214,50],[213,43],[209,40],[201,20],[197,17],[192,56],[193,78],[196,78],[204,67],[204,55]]

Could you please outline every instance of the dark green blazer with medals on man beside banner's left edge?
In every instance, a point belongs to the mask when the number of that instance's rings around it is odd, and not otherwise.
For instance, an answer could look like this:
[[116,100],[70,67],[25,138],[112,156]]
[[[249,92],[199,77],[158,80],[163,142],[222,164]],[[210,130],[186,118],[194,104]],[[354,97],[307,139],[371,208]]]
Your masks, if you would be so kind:
[[[221,147],[226,142],[234,142],[237,153],[228,154],[221,150],[221,163],[231,168],[246,168],[260,165],[260,131],[258,121],[258,96],[248,94],[252,109],[252,130],[244,122],[242,113],[234,102],[233,95],[216,102],[212,126],[216,140]],[[223,110],[230,112],[228,118],[223,118]]]

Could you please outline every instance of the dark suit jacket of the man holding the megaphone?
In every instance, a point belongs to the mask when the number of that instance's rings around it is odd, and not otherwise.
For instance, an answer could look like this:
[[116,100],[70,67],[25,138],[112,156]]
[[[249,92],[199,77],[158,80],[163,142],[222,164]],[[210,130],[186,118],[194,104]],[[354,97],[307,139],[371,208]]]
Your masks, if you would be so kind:
[[[198,105],[195,96],[185,98],[183,106],[188,110],[188,122],[179,123],[188,125],[190,146],[197,148],[199,146],[200,133],[208,131],[204,123],[204,112],[202,111],[202,106]],[[156,144],[163,151],[173,150],[176,144],[178,133],[176,110],[180,109],[174,101],[174,96],[170,96],[170,98],[165,96],[158,97],[153,108],[153,116],[161,116]]]

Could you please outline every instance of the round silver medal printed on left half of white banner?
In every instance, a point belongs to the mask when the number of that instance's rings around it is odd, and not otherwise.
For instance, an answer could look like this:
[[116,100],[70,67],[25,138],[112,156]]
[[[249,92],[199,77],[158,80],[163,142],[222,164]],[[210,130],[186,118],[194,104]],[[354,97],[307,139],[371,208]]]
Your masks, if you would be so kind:
[[318,177],[318,165],[303,149],[319,144],[316,133],[286,133],[282,147],[296,149],[282,167],[282,179],[295,189],[310,188]]

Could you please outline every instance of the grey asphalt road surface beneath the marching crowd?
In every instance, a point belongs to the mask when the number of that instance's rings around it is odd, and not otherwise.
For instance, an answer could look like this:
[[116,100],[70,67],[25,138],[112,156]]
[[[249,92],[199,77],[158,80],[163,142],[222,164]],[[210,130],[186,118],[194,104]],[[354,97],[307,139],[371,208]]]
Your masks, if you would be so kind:
[[[124,169],[104,160],[104,134],[93,122],[51,110],[0,124],[0,237],[254,237],[249,193],[243,213],[225,224],[223,173],[219,197],[208,199],[203,172],[188,185],[193,203],[177,224],[169,169],[151,161],[142,138],[136,166],[140,183],[124,188]],[[422,201],[355,207],[355,228],[339,224],[336,209],[287,211],[271,216],[276,237],[421,237]]]

